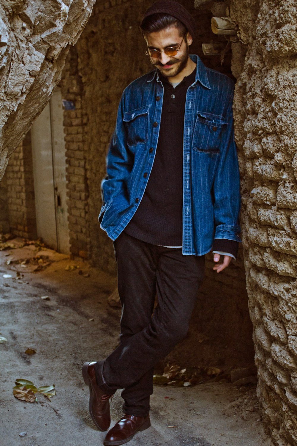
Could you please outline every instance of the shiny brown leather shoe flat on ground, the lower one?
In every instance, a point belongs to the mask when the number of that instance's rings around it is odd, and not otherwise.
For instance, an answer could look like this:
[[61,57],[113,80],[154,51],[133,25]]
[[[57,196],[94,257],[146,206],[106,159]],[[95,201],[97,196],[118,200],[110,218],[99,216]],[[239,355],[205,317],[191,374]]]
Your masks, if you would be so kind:
[[106,446],[118,446],[130,442],[136,432],[150,427],[150,415],[146,417],[134,417],[124,415],[106,435],[103,444]]

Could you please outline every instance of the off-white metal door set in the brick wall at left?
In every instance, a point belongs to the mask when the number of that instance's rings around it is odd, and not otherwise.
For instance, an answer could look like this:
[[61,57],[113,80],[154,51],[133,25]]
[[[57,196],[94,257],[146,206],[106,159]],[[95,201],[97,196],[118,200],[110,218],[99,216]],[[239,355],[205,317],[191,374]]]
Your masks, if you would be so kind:
[[31,130],[37,236],[69,254],[66,206],[66,163],[60,88]]

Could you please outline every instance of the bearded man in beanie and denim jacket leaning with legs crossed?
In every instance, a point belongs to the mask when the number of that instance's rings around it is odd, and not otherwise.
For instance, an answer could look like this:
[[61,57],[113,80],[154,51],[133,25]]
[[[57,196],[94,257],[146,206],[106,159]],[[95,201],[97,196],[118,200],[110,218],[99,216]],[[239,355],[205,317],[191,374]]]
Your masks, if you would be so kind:
[[140,26],[156,69],[123,92],[99,215],[117,260],[120,344],[82,371],[99,430],[110,425],[110,396],[124,389],[109,446],[150,426],[154,365],[187,334],[204,254],[215,253],[219,273],[240,241],[232,80],[189,56],[195,21],[179,3],[157,1]]

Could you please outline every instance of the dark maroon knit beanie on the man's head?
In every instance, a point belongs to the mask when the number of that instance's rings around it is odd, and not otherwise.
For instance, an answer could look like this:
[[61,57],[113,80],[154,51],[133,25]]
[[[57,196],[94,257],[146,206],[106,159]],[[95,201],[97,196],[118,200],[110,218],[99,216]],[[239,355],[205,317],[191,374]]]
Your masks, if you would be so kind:
[[[183,25],[185,25],[192,37],[195,36],[196,24],[194,17],[191,16],[190,12],[188,12],[182,4],[174,0],[156,1],[154,4],[152,4],[152,6],[150,6],[150,8],[146,10],[144,16],[142,17],[142,22],[144,21],[144,19],[146,19],[146,17],[158,13],[169,14],[170,16],[175,17],[176,19],[181,21]],[[140,27],[142,25],[142,22],[140,24]]]

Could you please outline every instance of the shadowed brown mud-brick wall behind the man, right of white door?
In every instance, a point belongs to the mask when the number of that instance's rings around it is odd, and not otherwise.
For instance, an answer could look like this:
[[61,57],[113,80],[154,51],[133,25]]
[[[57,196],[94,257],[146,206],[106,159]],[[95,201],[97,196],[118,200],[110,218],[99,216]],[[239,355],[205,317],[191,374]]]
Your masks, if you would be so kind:
[[[183,4],[195,15],[198,25],[191,52],[203,58],[201,43],[216,41],[210,29],[212,15],[196,11],[192,1]],[[65,111],[64,115],[71,249],[76,255],[87,250],[93,264],[110,273],[115,273],[116,265],[112,243],[98,223],[100,182],[106,174],[105,157],[122,91],[152,69],[138,30],[147,7],[148,3],[142,1],[97,1],[75,46],[77,56],[74,51],[69,54],[63,73],[63,98],[76,100],[76,111]],[[228,57],[223,66],[219,58],[203,61],[231,74]],[[250,365],[253,354],[242,255],[224,275],[214,273],[212,262],[207,261],[206,280],[189,334],[169,359],[228,368]]]

